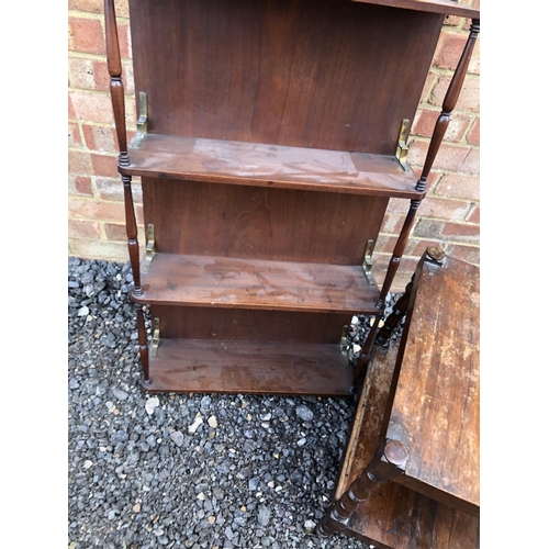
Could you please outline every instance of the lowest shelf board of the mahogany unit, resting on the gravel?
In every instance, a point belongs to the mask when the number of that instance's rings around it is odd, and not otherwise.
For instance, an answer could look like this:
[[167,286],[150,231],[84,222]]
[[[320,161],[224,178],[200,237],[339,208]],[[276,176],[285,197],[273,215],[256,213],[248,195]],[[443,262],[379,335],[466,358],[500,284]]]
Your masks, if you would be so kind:
[[339,345],[160,339],[148,391],[350,394]]

